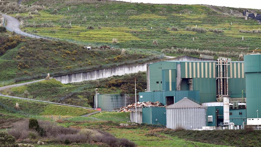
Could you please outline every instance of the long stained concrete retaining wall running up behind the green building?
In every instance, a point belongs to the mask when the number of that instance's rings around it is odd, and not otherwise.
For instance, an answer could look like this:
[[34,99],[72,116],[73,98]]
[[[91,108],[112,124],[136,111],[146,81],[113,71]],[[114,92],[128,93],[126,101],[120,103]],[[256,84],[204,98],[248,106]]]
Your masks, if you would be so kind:
[[77,72],[66,75],[53,76],[56,80],[63,84],[82,82],[86,80],[96,80],[101,78],[108,78],[114,75],[125,75],[130,73],[137,73],[139,71],[147,71],[147,64],[152,64],[160,61],[210,61],[209,59],[200,59],[190,56],[179,56],[176,58],[160,59],[154,61],[147,61],[141,63],[134,63],[128,65],[121,65],[117,67],[109,67],[104,69],[96,69],[85,72]]

